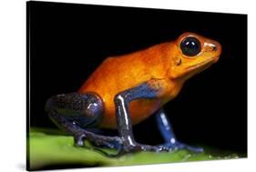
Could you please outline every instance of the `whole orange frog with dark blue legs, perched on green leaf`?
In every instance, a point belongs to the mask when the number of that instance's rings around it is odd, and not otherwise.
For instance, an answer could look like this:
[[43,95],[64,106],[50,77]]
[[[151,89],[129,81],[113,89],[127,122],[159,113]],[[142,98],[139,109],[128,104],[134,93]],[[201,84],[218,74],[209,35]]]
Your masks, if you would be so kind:
[[[191,32],[173,41],[149,46],[127,55],[109,56],[77,92],[51,96],[46,101],[49,118],[74,137],[76,147],[85,141],[119,153],[173,151],[203,152],[179,142],[164,106],[179,95],[192,76],[218,62],[220,43]],[[132,127],[154,116],[164,143],[140,144]],[[91,128],[117,129],[118,136],[104,136]]]

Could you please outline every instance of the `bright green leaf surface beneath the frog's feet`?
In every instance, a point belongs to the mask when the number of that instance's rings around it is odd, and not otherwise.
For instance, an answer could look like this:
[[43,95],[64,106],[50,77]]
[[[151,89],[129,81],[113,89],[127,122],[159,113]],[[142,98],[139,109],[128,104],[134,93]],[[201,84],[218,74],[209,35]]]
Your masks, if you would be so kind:
[[85,147],[74,147],[73,137],[65,136],[56,130],[40,128],[31,128],[27,139],[30,170],[68,165],[74,167],[132,166],[239,157],[238,154],[209,147],[204,147],[205,151],[200,154],[179,150],[161,153],[138,152],[113,157],[110,155],[117,154],[116,150],[92,147],[89,143],[86,143]]

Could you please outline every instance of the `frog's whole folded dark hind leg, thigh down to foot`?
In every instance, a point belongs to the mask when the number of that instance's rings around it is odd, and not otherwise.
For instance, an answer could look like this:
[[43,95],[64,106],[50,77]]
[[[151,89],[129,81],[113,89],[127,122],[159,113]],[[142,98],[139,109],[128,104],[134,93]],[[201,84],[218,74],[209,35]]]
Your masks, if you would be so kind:
[[46,112],[57,126],[74,135],[75,144],[83,146],[83,139],[98,146],[119,147],[119,137],[103,137],[83,128],[97,126],[103,115],[101,99],[93,94],[69,93],[52,96],[46,102]]

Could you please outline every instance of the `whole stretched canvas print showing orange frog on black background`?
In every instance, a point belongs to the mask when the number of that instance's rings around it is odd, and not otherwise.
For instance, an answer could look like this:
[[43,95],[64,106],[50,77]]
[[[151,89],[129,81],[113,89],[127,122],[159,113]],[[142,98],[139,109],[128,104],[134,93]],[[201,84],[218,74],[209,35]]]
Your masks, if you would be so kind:
[[26,13],[28,170],[247,157],[246,14]]

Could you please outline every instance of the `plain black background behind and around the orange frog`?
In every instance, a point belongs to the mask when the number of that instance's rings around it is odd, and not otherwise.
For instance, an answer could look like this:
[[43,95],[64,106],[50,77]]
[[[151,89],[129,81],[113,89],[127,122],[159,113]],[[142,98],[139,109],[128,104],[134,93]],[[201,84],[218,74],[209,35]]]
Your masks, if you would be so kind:
[[[174,40],[190,31],[219,41],[223,51],[217,64],[192,77],[165,106],[174,131],[182,142],[247,152],[247,15],[27,5],[31,126],[56,127],[46,116],[46,99],[77,91],[107,56]],[[134,126],[134,133],[138,142],[162,142],[154,117]]]

